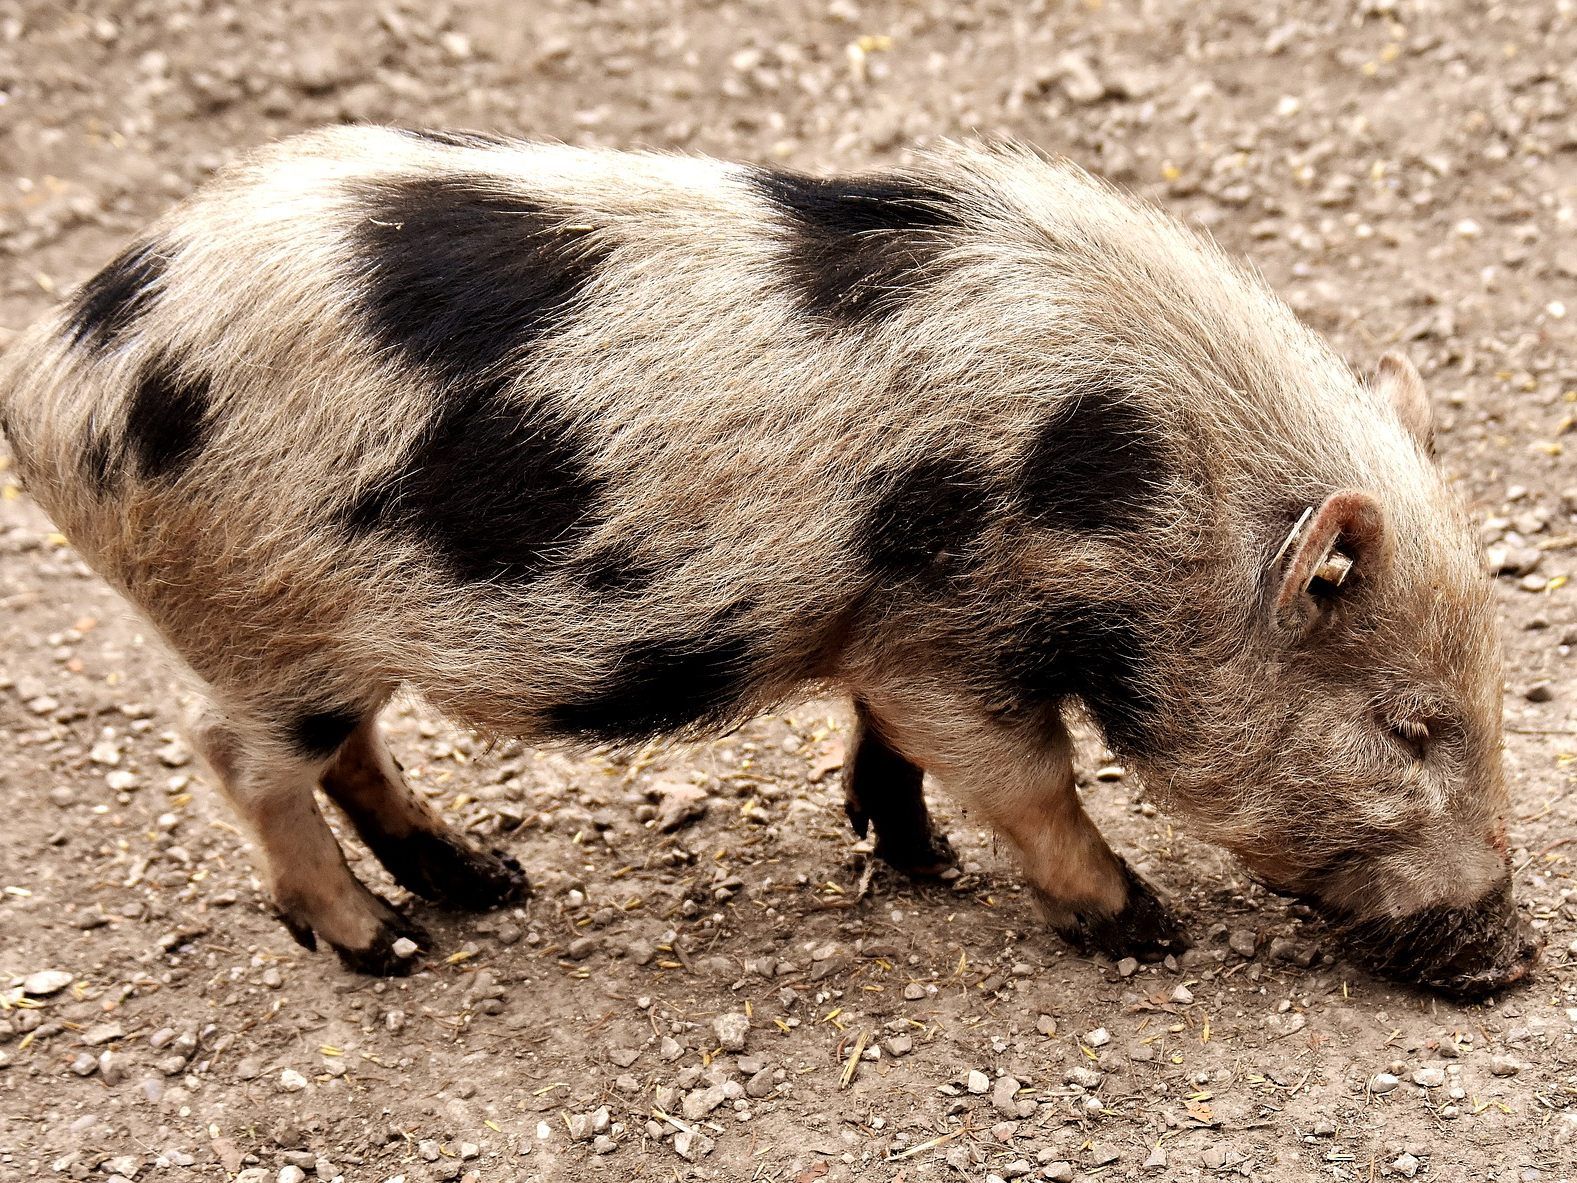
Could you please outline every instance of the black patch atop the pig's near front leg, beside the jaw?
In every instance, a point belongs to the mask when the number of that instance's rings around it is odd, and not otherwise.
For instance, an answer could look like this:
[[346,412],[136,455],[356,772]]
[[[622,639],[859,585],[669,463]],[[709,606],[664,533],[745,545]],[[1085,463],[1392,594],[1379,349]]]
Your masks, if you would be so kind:
[[[1000,678],[1001,710],[1022,715],[1082,699],[1113,751],[1150,748],[1159,710],[1154,655],[1137,607],[1112,603],[1009,606],[986,653]],[[992,677],[992,675],[987,675]]]

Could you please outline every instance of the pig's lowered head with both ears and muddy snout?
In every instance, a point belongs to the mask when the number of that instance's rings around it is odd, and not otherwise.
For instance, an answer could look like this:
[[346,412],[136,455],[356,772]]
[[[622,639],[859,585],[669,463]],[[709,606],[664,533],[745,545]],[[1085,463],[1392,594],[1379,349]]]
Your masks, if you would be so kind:
[[1372,386],[1404,427],[1377,432],[1408,451],[1372,487],[1279,511],[1285,544],[1243,576],[1254,618],[1224,629],[1156,771],[1355,959],[1482,995],[1538,953],[1511,896],[1490,579],[1430,459],[1418,372],[1388,355]]

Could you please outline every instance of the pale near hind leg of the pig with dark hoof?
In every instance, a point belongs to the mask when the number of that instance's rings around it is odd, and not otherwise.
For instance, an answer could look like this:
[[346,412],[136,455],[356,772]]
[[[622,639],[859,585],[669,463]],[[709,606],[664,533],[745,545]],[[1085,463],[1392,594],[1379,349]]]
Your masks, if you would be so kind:
[[397,942],[421,946],[427,937],[345,866],[314,795],[342,730],[326,718],[317,722],[323,726],[301,743],[300,735],[279,737],[267,724],[210,708],[191,735],[251,833],[274,909],[290,935],[309,950],[322,937],[347,968],[361,973],[408,973],[413,948]]

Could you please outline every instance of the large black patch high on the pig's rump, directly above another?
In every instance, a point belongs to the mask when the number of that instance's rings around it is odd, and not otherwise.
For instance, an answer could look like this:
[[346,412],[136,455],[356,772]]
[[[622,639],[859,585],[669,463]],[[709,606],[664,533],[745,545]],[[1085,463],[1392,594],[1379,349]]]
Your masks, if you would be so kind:
[[[374,334],[472,386],[561,325],[607,251],[572,210],[487,177],[361,186],[355,276]],[[576,229],[579,227],[579,229]]]

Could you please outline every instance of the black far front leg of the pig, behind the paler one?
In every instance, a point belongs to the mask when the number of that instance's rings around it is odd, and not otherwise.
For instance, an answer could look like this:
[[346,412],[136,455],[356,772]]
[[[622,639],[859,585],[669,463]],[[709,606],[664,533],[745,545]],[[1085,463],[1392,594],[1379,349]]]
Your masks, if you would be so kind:
[[912,875],[935,875],[957,861],[946,834],[932,825],[924,779],[926,773],[893,751],[856,702],[844,812],[861,838],[875,828],[877,858]]

